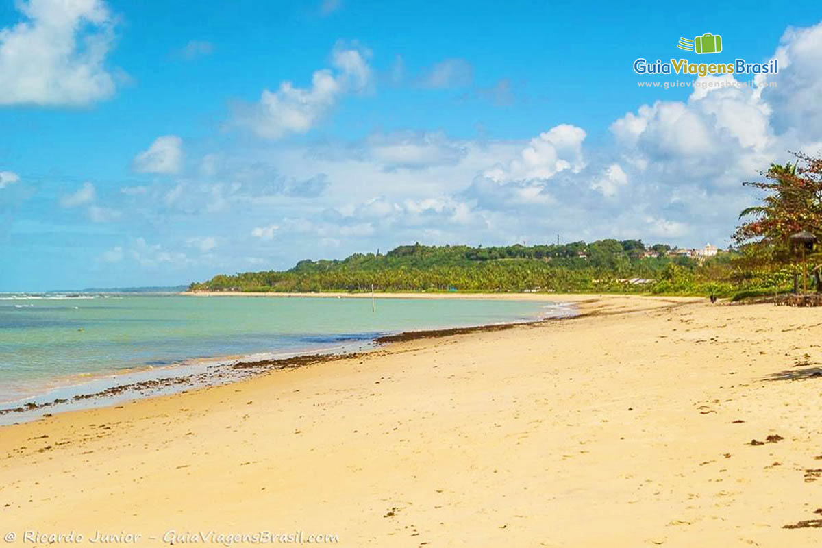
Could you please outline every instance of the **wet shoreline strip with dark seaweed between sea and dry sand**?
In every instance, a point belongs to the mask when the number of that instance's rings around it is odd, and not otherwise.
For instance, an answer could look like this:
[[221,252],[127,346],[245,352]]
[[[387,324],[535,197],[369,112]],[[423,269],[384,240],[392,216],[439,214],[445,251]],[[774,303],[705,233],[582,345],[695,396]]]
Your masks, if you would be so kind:
[[[416,295],[418,295],[416,298],[428,298],[426,294]],[[288,296],[311,297],[312,295],[289,294]],[[330,295],[330,297],[337,297],[337,294]],[[384,298],[395,298],[395,296],[389,294]],[[484,297],[479,295],[475,298],[483,299]],[[543,299],[529,300],[543,301]],[[566,308],[567,305],[574,303],[574,300],[570,300],[557,302],[557,305]],[[95,375],[82,373],[65,379],[77,380],[77,382],[59,384],[58,380],[53,380],[55,384],[50,383],[43,392],[38,391],[16,400],[0,403],[0,428],[21,422],[36,421],[42,417],[52,417],[58,413],[82,411],[89,408],[107,408],[145,398],[179,394],[210,386],[230,385],[269,368],[271,371],[276,371],[281,368],[291,368],[292,363],[310,365],[311,359],[316,363],[321,363],[334,361],[339,359],[338,357],[354,357],[361,352],[372,351],[392,341],[509,329],[515,325],[538,324],[574,315],[576,315],[574,311],[562,311],[558,315],[546,316],[538,320],[511,320],[464,327],[412,329],[397,333],[384,333],[370,339],[363,338],[357,343],[329,348],[295,348],[293,352],[274,354],[261,351],[241,356],[198,357],[167,366],[146,365],[123,371],[101,371]],[[269,355],[269,357],[261,358],[261,355]],[[95,386],[97,388],[94,388]],[[84,389],[85,391],[81,391]]]

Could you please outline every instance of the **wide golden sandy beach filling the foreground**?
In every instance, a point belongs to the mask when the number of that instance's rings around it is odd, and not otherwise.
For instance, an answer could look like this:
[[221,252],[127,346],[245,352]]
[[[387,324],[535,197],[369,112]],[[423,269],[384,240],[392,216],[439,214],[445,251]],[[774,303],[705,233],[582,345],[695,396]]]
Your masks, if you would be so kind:
[[822,310],[533,298],[583,314],[2,427],[0,535],[819,541]]

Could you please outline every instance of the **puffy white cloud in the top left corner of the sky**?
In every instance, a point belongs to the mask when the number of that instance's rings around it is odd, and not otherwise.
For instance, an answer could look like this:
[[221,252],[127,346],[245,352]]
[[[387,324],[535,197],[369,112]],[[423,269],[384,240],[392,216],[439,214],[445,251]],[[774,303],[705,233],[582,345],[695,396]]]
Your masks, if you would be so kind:
[[0,104],[85,105],[114,93],[114,19],[102,0],[16,5],[24,20],[0,30]]

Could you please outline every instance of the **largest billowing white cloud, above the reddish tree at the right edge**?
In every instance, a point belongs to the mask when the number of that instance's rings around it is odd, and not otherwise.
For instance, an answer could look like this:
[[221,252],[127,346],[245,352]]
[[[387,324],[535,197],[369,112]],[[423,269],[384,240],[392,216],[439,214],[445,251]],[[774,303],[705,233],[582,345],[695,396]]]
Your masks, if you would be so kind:
[[822,82],[810,69],[820,47],[822,25],[789,29],[775,53],[778,74],[756,76],[754,86],[731,75],[697,78],[685,101],[640,105],[615,120],[617,161],[599,168],[591,185],[621,207],[615,216],[598,206],[616,217],[612,225],[628,232],[630,219],[657,237],[727,240],[754,200],[742,181],[792,159],[789,150],[822,151],[822,108],[808,102]]

